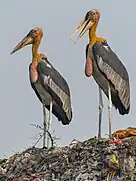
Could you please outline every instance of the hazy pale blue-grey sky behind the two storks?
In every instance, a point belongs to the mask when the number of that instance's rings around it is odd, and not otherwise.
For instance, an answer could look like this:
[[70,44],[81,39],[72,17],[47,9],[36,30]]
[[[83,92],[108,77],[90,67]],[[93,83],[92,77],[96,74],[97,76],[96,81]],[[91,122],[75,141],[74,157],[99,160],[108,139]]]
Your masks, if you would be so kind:
[[[101,12],[97,34],[108,40],[130,75],[131,111],[128,116],[120,116],[113,109],[112,131],[135,126],[135,7],[135,0],[120,0],[117,3],[109,0],[1,0],[0,157],[31,146],[35,141],[30,138],[35,137],[39,130],[30,124],[42,124],[43,121],[42,105],[29,84],[31,46],[10,55],[15,45],[35,26],[41,27],[44,32],[40,52],[47,55],[71,88],[71,124],[62,126],[53,117],[52,129],[61,137],[58,144],[62,146],[74,138],[85,140],[97,135],[98,87],[93,78],[88,79],[84,75],[88,36],[75,45],[69,39],[74,28],[92,8],[98,8]],[[108,133],[107,106],[104,95],[103,135]]]

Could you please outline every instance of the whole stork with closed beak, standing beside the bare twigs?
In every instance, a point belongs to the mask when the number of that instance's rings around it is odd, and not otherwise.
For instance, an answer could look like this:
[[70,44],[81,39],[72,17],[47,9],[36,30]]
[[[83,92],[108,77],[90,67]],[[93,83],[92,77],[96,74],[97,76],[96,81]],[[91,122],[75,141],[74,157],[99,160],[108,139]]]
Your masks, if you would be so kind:
[[[44,115],[44,139],[43,146],[49,146],[49,137],[46,132],[50,131],[51,113],[53,113],[63,125],[68,125],[72,119],[71,95],[66,80],[52,66],[47,57],[38,53],[43,36],[41,28],[32,29],[23,40],[13,49],[11,54],[26,45],[32,44],[32,63],[29,66],[30,83],[37,97],[43,104]],[[45,107],[49,110],[49,120],[46,119]],[[47,139],[47,140],[46,140]]]

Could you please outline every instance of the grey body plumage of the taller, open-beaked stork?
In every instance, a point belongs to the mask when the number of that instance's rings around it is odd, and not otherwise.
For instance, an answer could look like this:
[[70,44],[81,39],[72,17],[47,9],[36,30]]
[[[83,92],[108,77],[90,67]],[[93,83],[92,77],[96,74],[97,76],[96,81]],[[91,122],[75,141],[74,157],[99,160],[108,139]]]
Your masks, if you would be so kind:
[[120,114],[128,114],[130,86],[125,66],[107,43],[96,42],[93,47],[87,45],[86,56],[93,60],[93,77],[100,88],[108,97],[109,83],[113,105]]

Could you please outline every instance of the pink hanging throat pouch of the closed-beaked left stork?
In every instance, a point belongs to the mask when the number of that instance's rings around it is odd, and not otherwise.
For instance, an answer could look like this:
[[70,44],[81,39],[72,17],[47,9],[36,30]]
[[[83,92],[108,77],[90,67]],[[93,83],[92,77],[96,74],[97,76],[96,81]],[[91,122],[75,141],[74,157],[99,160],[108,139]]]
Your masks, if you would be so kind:
[[31,64],[31,67],[30,67],[30,80],[32,83],[38,80],[37,65],[33,63]]

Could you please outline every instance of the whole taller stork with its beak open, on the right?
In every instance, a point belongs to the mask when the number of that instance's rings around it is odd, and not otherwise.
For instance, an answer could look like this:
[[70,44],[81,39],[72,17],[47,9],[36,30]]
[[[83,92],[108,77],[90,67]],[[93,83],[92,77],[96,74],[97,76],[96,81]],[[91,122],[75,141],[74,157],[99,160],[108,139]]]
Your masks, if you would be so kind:
[[98,137],[101,137],[102,91],[108,97],[109,136],[111,137],[112,104],[118,109],[121,115],[128,114],[130,110],[129,76],[125,66],[110,48],[107,41],[104,38],[96,36],[99,18],[100,13],[97,9],[90,10],[72,36],[80,31],[77,37],[77,39],[80,39],[84,33],[89,30],[89,44],[86,47],[85,74],[87,77],[92,75],[99,86]]

